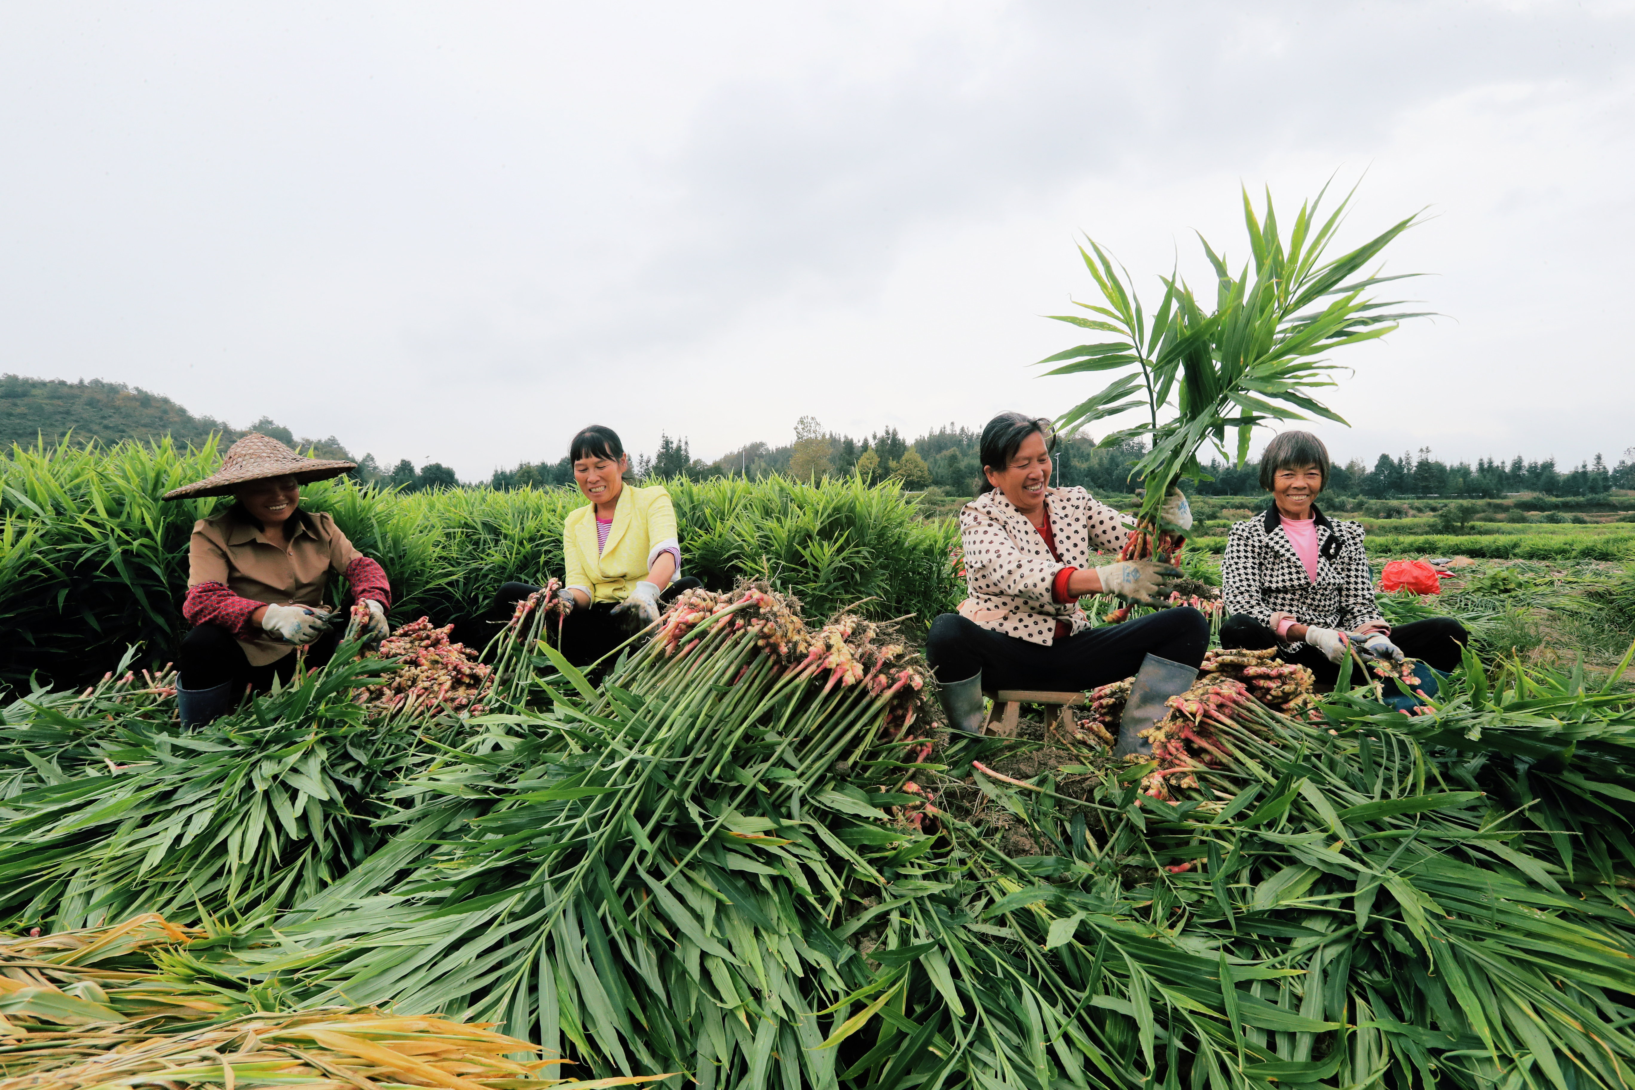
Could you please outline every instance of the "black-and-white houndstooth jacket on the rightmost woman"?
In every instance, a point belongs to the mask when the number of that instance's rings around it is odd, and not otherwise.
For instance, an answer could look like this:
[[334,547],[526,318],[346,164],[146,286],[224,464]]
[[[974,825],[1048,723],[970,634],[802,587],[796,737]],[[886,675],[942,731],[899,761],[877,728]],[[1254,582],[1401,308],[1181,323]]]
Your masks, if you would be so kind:
[[[1315,505],[1318,521],[1318,579],[1311,582],[1293,543],[1283,533],[1274,503],[1265,515],[1233,523],[1221,557],[1226,613],[1244,613],[1267,624],[1274,613],[1292,613],[1300,624],[1357,629],[1382,621],[1373,601],[1373,569],[1362,546],[1362,523],[1331,523]],[[1300,644],[1285,644],[1298,650]]]

